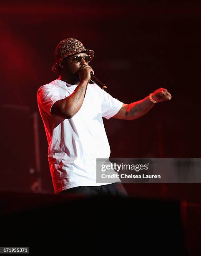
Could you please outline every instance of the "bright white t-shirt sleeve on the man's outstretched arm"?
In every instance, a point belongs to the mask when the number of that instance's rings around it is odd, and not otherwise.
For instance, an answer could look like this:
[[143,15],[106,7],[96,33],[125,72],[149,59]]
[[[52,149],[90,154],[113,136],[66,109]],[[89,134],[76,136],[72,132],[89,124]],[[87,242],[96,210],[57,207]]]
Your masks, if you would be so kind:
[[100,89],[98,85],[97,87],[99,88],[100,97],[102,101],[102,116],[106,119],[110,119],[119,112],[119,110],[123,106],[123,102],[117,100],[116,98],[113,98],[108,92]]

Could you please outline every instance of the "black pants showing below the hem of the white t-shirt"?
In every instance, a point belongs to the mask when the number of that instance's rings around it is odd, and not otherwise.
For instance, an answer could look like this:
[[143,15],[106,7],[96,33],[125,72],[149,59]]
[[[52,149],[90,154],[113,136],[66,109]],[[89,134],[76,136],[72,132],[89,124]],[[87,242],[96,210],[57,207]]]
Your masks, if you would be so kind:
[[128,197],[126,189],[123,187],[121,182],[115,182],[102,186],[79,186],[59,192],[59,194],[63,193],[85,195],[88,197]]

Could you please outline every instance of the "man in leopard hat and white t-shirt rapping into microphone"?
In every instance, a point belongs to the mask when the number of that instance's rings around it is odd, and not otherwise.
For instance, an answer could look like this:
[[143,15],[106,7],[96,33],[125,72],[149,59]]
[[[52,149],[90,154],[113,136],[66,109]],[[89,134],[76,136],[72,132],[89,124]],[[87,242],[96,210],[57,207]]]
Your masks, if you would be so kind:
[[171,100],[160,88],[143,100],[124,104],[89,83],[94,51],[74,38],[60,41],[52,68],[59,78],[38,89],[38,108],[48,139],[48,161],[55,194],[128,197],[121,182],[96,182],[96,159],[109,158],[104,118],[134,120],[156,102]]

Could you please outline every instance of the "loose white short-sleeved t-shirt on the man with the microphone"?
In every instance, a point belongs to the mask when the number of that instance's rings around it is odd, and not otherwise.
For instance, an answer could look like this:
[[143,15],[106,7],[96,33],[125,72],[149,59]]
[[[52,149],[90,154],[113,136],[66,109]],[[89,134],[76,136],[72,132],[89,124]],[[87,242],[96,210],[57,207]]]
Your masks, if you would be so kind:
[[116,115],[123,102],[97,84],[88,84],[83,104],[73,118],[51,115],[53,104],[68,97],[77,86],[56,79],[38,89],[38,108],[48,139],[55,194],[72,187],[110,184],[96,183],[96,158],[110,156],[102,117],[109,119]]

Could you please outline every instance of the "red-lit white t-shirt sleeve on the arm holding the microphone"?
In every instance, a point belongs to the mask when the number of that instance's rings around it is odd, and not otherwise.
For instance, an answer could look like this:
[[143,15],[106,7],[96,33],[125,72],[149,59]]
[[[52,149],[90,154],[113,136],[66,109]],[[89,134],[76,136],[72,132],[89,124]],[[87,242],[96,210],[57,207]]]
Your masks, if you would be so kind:
[[38,108],[43,113],[45,112],[51,117],[54,117],[50,113],[53,104],[56,101],[64,98],[65,94],[62,93],[58,87],[51,84],[43,85],[38,89],[37,92]]

